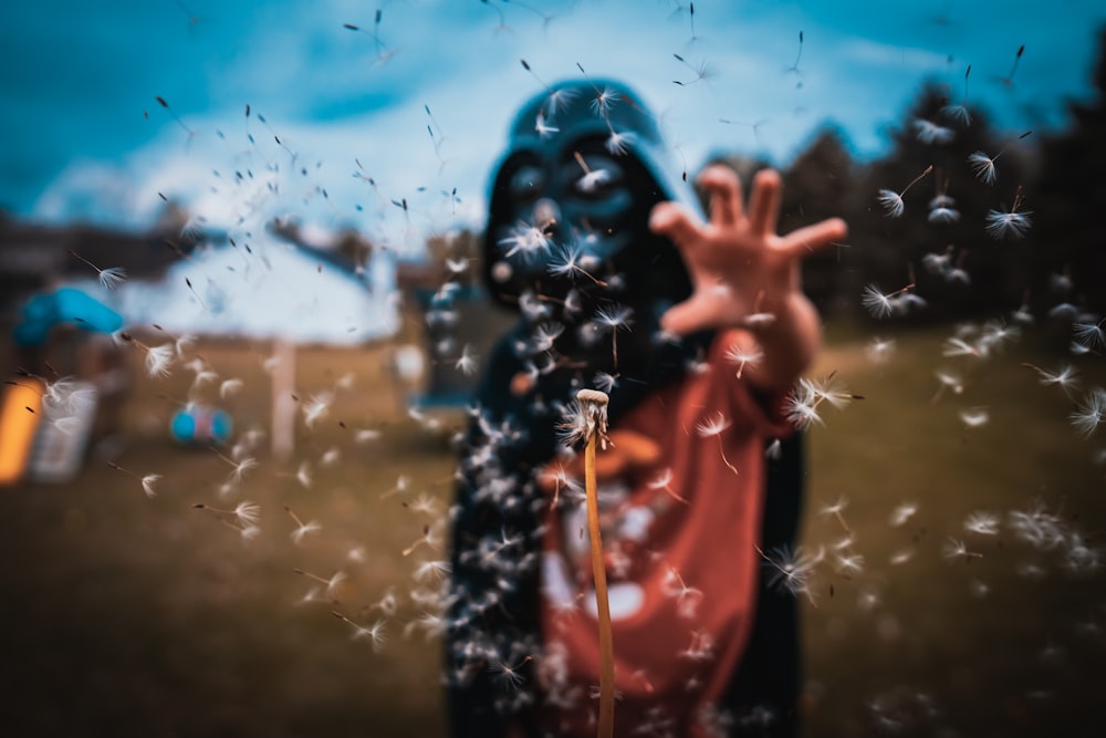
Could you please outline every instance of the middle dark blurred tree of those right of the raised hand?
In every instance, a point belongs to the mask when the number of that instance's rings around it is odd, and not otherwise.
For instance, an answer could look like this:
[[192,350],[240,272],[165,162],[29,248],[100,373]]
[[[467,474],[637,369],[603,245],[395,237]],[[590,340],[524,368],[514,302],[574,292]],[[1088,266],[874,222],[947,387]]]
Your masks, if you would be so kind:
[[[1003,149],[981,111],[958,107],[937,84],[924,85],[890,131],[890,153],[860,176],[862,206],[847,216],[849,259],[865,284],[889,293],[912,283],[927,304],[911,314],[926,321],[1009,312],[1026,284],[1027,240],[1003,242],[987,230],[988,212],[1009,209],[1025,181],[1025,147]],[[969,157],[1000,152],[988,184]]]

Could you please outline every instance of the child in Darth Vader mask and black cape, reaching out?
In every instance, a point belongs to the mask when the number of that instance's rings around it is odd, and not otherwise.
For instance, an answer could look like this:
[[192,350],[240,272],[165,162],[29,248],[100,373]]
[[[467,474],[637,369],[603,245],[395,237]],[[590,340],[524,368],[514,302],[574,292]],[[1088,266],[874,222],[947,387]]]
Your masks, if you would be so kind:
[[[493,177],[484,282],[520,320],[488,360],[453,507],[447,625],[456,736],[595,734],[598,635],[580,462],[583,387],[609,394],[599,502],[616,735],[791,735],[795,604],[761,551],[793,542],[802,447],[783,402],[820,347],[801,258],[709,167],[703,221],[635,93],[605,81],[523,106]],[[765,450],[779,451],[778,460]],[[774,455],[773,455],[774,456]]]

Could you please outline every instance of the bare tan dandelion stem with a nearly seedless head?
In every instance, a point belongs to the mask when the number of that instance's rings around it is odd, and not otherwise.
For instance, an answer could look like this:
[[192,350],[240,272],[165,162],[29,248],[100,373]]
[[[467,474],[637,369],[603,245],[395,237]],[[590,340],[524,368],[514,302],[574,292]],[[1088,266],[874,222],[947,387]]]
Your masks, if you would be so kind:
[[595,389],[576,395],[585,415],[596,414],[601,420],[588,424],[584,449],[584,485],[587,497],[587,533],[592,547],[592,574],[595,578],[595,604],[599,623],[599,723],[598,738],[614,736],[615,651],[611,632],[611,603],[607,600],[607,571],[603,562],[603,540],[599,531],[599,498],[595,480],[595,447],[605,433],[607,396]]

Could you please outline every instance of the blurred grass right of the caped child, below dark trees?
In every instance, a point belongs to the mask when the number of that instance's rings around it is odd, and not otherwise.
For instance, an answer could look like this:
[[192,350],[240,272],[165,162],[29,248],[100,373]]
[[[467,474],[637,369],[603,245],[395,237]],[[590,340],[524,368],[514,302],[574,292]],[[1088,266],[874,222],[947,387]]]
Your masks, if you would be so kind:
[[[821,360],[824,372],[841,364],[865,399],[828,410],[825,427],[811,434],[804,539],[831,547],[843,537],[838,521],[817,510],[844,496],[852,550],[866,568],[852,579],[825,568],[817,607],[805,612],[807,735],[870,735],[878,728],[872,705],[880,704],[901,710],[906,735],[1097,735],[1081,726],[1100,727],[1106,642],[1081,624],[1100,625],[1106,615],[1102,574],[1065,573],[1058,552],[1034,550],[1005,524],[1009,511],[1040,501],[1102,544],[1106,469],[1072,428],[1072,402],[1021,366],[1055,367],[1065,357],[1030,336],[987,358],[952,360],[941,356],[947,334],[899,336],[883,367],[857,364],[858,344],[835,345]],[[962,394],[932,402],[938,367],[968,378]],[[1098,360],[1082,368],[1084,384],[1102,384]],[[990,422],[966,428],[960,410],[979,406]],[[904,501],[918,512],[891,527]],[[1001,516],[1000,534],[966,531],[975,511]],[[950,536],[982,558],[946,559]],[[889,563],[900,551],[912,557]],[[1025,563],[1044,575],[1020,574]],[[869,596],[878,604],[859,603]]]

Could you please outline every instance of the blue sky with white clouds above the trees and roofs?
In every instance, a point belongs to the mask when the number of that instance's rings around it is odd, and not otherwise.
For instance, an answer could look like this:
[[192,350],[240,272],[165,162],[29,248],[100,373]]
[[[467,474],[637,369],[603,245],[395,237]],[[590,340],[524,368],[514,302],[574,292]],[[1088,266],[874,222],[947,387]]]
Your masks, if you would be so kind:
[[[684,0],[6,3],[0,205],[39,220],[139,228],[165,196],[200,227],[249,231],[284,216],[417,250],[427,233],[480,226],[513,112],[543,82],[578,76],[577,64],[636,87],[690,169],[719,149],[786,164],[825,121],[870,157],[921,80],[959,97],[968,64],[969,101],[1000,127],[1016,135],[1063,126],[1065,101],[1091,94],[1106,21],[1089,0],[698,0],[690,8]],[[797,72],[789,70],[796,58]],[[703,67],[706,79],[674,84]]]

